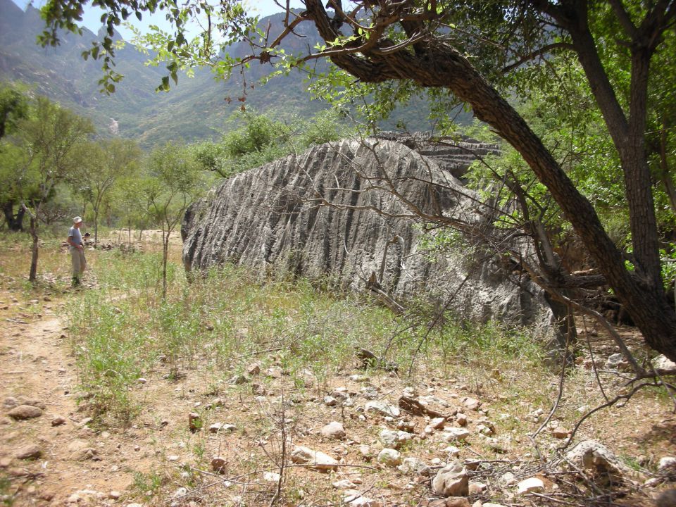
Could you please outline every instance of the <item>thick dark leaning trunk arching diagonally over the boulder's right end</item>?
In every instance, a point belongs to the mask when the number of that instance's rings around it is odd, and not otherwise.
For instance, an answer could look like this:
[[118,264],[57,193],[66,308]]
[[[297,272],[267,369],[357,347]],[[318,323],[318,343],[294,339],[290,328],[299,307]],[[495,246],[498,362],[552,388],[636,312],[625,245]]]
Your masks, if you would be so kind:
[[[314,21],[323,39],[334,40],[339,37],[319,0],[306,0],[306,7],[308,18]],[[549,189],[565,218],[589,249],[608,284],[613,287],[627,308],[627,313],[632,316],[634,323],[644,334],[646,342],[653,349],[676,361],[676,313],[668,305],[663,287],[655,283],[653,276],[656,256],[653,237],[656,232],[642,233],[639,240],[647,242],[639,246],[643,273],[638,275],[630,273],[625,268],[622,254],[603,229],[594,206],[580,194],[525,120],[480,75],[467,58],[453,47],[436,39],[425,40],[420,51],[418,48],[415,51],[410,49],[387,51],[387,46],[377,47],[377,44],[373,49],[374,51],[363,49],[361,54],[333,56],[332,61],[363,82],[411,79],[422,87],[449,89],[459,99],[470,104],[475,116],[493,127],[500,137],[511,144],[530,166],[538,180]],[[605,98],[613,99],[613,97]],[[614,108],[608,109],[616,111]],[[617,120],[626,123],[623,116]],[[634,156],[639,149],[640,146],[636,146]],[[640,161],[637,163],[641,164]],[[632,203],[634,206],[632,226],[639,223],[651,226],[654,224],[650,219],[652,210],[645,208],[652,202],[651,197],[645,194],[645,185],[649,185],[650,180],[647,183],[642,180],[644,177],[642,167],[629,169],[633,170],[630,179],[633,177],[636,180],[631,183],[636,184],[636,187],[627,190],[628,193],[632,193],[632,201],[635,200]],[[648,199],[642,201],[643,215],[639,211],[641,199]]]

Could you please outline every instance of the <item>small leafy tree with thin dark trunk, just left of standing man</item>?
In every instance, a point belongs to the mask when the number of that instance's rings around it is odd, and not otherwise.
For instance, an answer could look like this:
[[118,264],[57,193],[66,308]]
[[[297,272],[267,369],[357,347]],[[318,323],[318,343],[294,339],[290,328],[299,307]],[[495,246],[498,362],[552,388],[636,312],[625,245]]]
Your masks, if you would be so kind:
[[92,123],[44,97],[38,97],[35,112],[18,124],[17,168],[19,187],[33,186],[37,192],[21,206],[30,215],[33,239],[28,280],[35,282],[39,253],[39,222],[42,206],[54,196],[56,184],[73,173],[80,161],[77,147],[94,132]]

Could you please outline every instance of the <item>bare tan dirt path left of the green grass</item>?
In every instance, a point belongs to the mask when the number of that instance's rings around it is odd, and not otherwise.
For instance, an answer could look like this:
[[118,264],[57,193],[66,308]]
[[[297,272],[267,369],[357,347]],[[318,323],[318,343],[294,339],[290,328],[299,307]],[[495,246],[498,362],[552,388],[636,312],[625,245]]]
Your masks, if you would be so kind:
[[[13,495],[15,506],[63,506],[92,500],[101,505],[113,500],[108,499],[115,496],[111,492],[130,486],[132,474],[123,463],[125,454],[134,450],[113,434],[97,435],[87,427],[86,416],[77,411],[77,373],[68,355],[64,325],[49,309],[43,311],[49,314],[8,317],[6,311],[0,312],[4,321],[0,332],[4,412],[15,403],[43,409],[37,418],[0,419],[0,474],[12,478],[12,487],[4,494]],[[53,426],[57,415],[65,423]],[[41,456],[18,458],[27,446],[37,446]]]

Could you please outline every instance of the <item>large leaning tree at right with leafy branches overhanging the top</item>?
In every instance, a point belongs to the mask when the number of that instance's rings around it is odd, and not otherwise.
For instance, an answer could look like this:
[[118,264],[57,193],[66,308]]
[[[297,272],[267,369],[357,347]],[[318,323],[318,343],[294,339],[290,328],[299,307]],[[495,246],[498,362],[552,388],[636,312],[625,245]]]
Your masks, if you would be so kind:
[[[676,202],[672,114],[676,1],[361,0],[344,6],[340,0],[329,0],[325,7],[323,1],[305,0],[303,11],[287,8],[284,26],[275,30],[258,26],[257,18],[233,0],[218,6],[196,0],[96,4],[107,11],[102,21],[108,37],[87,55],[103,58],[108,79],[119,77],[111,68],[115,25],[130,15],[141,18],[161,10],[175,30],[146,37],[146,42],[158,59],[167,62],[164,89],[170,78],[177,79],[180,68],[194,63],[211,65],[227,77],[234,70],[244,72],[254,61],[277,65],[270,73],[291,68],[313,73],[313,62],[328,58],[334,67],[325,83],[334,96],[370,92],[387,113],[392,101],[425,90],[437,102],[439,114],[454,101],[471,107],[476,118],[513,147],[556,202],[646,342],[676,360],[676,313],[663,284],[658,224],[658,212],[672,220]],[[43,42],[55,43],[58,28],[77,30],[82,2],[51,0],[43,15],[48,28]],[[205,27],[192,41],[186,32],[190,18],[200,18]],[[296,44],[300,49],[295,54],[284,51],[282,42],[301,34],[301,27],[308,24],[324,43],[315,48]],[[228,54],[228,46],[240,40],[249,41],[250,53]],[[598,203],[577,184],[575,173],[513,106],[515,95],[541,94],[540,100],[559,113],[575,113],[567,104],[573,94],[562,87],[575,81],[568,73],[582,81],[577,88],[584,104],[580,110],[588,109],[602,120],[597,141],[607,134],[612,142],[605,144],[610,151],[602,167],[617,172],[624,194],[627,249],[608,234]],[[572,115],[567,121],[575,125]],[[671,209],[658,209],[662,196]],[[533,223],[524,223],[524,228],[537,239]],[[544,284],[558,287],[560,269],[545,265]]]

